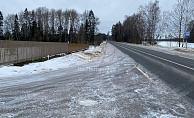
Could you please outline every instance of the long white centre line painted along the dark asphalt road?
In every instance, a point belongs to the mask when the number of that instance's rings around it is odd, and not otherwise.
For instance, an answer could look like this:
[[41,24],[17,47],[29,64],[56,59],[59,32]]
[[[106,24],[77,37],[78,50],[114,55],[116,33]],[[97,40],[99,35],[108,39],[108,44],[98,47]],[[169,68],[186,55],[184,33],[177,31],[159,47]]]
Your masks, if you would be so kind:
[[[125,48],[125,47],[121,47],[121,48],[124,48],[124,49],[126,49],[126,50],[129,50],[128,48]],[[190,70],[193,70],[193,71],[194,71],[194,68],[191,68],[191,67],[188,67],[188,66],[185,66],[185,65],[182,65],[182,64],[179,64],[179,63],[170,61],[170,60],[168,60],[168,59],[164,59],[164,58],[162,58],[162,57],[158,57],[158,56],[155,56],[155,55],[152,55],[152,54],[149,54],[149,53],[147,53],[147,52],[143,52],[143,51],[140,51],[140,50],[137,50],[137,49],[132,49],[132,50],[136,50],[136,51],[138,51],[138,52],[141,52],[141,53],[150,55],[150,56],[152,56],[152,57],[155,57],[155,58],[158,58],[158,59],[161,59],[161,60],[164,60],[164,61],[167,61],[167,62],[176,64],[176,65],[179,65],[179,66],[182,66],[182,67],[184,67],[184,68],[187,68],[187,69],[190,69]],[[129,51],[130,51],[130,50],[129,50]]]

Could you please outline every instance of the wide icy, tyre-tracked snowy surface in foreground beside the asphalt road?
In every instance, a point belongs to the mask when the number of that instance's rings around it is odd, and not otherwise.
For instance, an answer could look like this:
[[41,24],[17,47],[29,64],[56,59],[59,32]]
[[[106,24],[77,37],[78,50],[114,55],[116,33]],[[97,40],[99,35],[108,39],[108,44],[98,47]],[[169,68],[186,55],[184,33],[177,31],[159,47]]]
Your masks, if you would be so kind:
[[103,46],[104,55],[79,66],[1,77],[0,118],[194,116],[194,107],[157,77],[112,45]]

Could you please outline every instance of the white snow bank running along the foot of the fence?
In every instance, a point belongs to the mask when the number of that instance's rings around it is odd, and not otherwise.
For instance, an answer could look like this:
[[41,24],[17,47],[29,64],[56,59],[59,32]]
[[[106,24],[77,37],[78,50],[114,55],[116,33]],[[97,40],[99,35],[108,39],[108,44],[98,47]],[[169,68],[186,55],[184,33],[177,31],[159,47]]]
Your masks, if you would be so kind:
[[105,42],[97,47],[90,46],[86,51],[72,53],[64,57],[54,58],[45,62],[31,63],[24,65],[23,67],[10,65],[0,66],[0,78],[31,75],[81,65],[100,58],[104,50]]

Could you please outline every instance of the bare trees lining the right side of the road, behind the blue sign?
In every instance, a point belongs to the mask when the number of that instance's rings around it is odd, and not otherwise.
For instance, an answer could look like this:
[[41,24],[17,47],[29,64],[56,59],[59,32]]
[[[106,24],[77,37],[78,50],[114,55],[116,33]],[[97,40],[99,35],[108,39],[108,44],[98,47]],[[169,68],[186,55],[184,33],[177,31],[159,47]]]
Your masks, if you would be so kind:
[[194,1],[177,0],[171,11],[161,11],[159,1],[141,5],[138,12],[125,16],[112,26],[112,39],[115,41],[150,44],[157,39],[177,39],[185,41],[186,31],[191,32],[189,42],[194,42]]

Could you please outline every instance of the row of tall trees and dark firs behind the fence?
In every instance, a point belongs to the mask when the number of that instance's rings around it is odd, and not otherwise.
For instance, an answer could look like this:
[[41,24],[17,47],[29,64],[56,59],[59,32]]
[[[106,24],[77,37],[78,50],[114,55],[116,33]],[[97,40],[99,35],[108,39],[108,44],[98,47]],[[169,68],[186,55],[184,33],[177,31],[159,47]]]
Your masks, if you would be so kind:
[[92,10],[49,10],[40,7],[3,18],[0,11],[0,37],[16,41],[45,41],[94,44],[100,24]]

